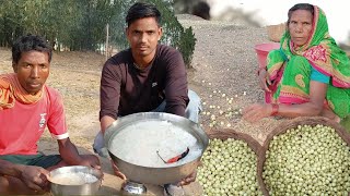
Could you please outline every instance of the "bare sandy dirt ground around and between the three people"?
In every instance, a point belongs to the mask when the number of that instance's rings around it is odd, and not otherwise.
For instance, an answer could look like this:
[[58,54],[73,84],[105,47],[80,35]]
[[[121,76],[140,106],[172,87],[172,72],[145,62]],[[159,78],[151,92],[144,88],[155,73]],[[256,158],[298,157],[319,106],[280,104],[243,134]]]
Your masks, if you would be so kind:
[[[242,109],[262,101],[258,88],[258,66],[254,46],[268,42],[265,28],[233,22],[203,21],[179,16],[184,26],[192,26],[197,38],[192,69],[188,70],[189,87],[202,99],[200,124],[205,131],[231,128],[245,132],[262,143],[266,134],[279,123],[265,119],[250,124],[241,120]],[[65,101],[71,140],[82,154],[92,154],[92,144],[100,130],[98,87],[101,69],[106,58],[93,52],[56,52],[52,57],[48,85],[58,89]],[[0,49],[0,73],[10,73],[10,49]],[[39,149],[57,154],[57,143],[46,132]],[[101,159],[105,177],[100,195],[118,195],[121,181],[112,174],[109,161]],[[162,195],[160,187],[150,186],[150,195]],[[197,183],[185,187],[186,195],[200,195]]]

